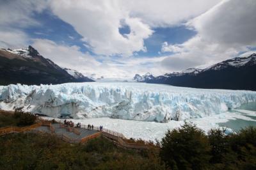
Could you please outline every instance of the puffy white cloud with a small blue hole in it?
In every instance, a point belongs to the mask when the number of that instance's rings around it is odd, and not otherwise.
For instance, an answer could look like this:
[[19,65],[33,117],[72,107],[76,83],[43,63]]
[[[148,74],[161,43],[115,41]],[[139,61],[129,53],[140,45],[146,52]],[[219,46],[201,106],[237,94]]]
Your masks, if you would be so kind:
[[[60,1],[52,1],[51,8],[74,26],[96,54],[132,56],[145,49],[143,40],[153,33],[141,19],[129,17],[118,1],[61,1],[61,5]],[[125,36],[118,31],[122,21],[131,29]]]

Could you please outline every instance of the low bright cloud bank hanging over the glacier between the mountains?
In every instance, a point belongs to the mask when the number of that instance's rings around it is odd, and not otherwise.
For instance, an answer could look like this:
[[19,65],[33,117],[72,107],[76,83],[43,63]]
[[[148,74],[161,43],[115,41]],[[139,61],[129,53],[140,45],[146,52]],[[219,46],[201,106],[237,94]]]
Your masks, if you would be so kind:
[[[84,54],[76,45],[68,46],[57,44],[50,40],[35,39],[33,47],[45,58],[49,58],[54,63],[62,67],[72,68],[84,75],[96,74],[97,77],[131,79],[136,73],[154,72],[164,73],[166,70],[159,69],[162,58],[122,58],[113,60],[108,57],[91,56]],[[102,62],[96,59],[103,59]]]

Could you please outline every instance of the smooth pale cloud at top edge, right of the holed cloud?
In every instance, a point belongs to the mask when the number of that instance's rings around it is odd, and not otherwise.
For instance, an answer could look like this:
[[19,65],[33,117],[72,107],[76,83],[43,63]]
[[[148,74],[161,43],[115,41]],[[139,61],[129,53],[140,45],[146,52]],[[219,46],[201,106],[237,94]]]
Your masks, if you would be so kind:
[[206,12],[221,0],[124,0],[122,6],[131,16],[151,27],[176,26]]

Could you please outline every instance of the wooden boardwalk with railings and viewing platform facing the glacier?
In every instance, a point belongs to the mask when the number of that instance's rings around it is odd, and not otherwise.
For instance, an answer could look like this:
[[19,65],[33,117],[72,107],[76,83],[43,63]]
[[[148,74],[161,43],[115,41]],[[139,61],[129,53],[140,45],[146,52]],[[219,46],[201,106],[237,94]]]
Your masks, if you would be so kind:
[[81,128],[65,127],[61,122],[51,123],[51,121],[39,119],[39,122],[29,127],[4,127],[0,128],[0,136],[10,133],[19,132],[43,132],[60,137],[67,143],[86,143],[86,141],[99,137],[100,135],[113,141],[117,146],[122,148],[132,148],[138,150],[151,149],[156,153],[159,153],[160,147],[149,143],[148,141],[134,141],[127,139],[123,134],[99,127],[94,127],[93,130],[88,130],[85,125],[81,125]]

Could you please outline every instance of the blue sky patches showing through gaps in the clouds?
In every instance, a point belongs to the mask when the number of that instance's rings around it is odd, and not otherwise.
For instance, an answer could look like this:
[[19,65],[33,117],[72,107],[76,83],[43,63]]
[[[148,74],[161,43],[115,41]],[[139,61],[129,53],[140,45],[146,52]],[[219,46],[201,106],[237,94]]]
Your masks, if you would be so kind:
[[[23,28],[23,31],[30,35],[31,38],[52,40],[59,44],[65,43],[67,45],[77,45],[80,47],[81,52],[90,52],[90,54],[95,55],[92,50],[83,45],[86,42],[81,40],[83,36],[79,35],[74,27],[53,15],[51,11],[45,10],[40,13],[34,13],[33,18],[38,20],[41,25]],[[131,29],[127,25],[119,27],[118,29],[119,33],[124,36],[125,34],[131,33]],[[161,54],[163,42],[168,42],[168,44],[183,43],[196,35],[196,31],[188,29],[184,25],[156,27],[152,30],[154,33],[144,40],[144,45],[147,48],[147,51],[137,52],[137,58],[140,56],[163,56],[163,54]],[[170,53],[164,52],[164,54]]]

